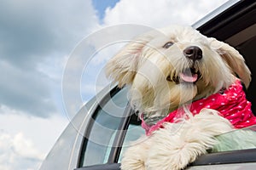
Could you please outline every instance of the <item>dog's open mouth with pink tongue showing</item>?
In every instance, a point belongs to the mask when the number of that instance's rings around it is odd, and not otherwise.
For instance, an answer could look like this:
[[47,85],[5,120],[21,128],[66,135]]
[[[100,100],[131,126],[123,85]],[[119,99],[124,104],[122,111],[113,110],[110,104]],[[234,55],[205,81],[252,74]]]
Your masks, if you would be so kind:
[[169,82],[176,82],[178,83],[195,83],[201,77],[200,71],[196,71],[195,68],[188,68],[184,71],[177,74],[177,76],[166,77],[166,80]]

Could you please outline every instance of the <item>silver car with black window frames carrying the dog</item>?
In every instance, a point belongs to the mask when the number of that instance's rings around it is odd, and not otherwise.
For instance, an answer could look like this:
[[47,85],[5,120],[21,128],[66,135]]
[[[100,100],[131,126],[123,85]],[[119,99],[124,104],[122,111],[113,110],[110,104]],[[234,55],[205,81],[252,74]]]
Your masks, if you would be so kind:
[[[256,113],[256,2],[231,0],[224,3],[193,27],[207,37],[216,37],[235,47],[244,56],[253,79],[246,90]],[[128,88],[107,86],[90,99],[74,116],[42,163],[40,170],[120,169],[120,160],[130,142],[144,132],[137,113],[127,99]],[[256,126],[224,133],[217,138],[239,131],[256,131]],[[232,143],[232,139],[230,138]],[[241,139],[242,141],[242,139]],[[211,152],[200,156],[187,169],[254,169],[256,148],[234,144],[232,150]]]

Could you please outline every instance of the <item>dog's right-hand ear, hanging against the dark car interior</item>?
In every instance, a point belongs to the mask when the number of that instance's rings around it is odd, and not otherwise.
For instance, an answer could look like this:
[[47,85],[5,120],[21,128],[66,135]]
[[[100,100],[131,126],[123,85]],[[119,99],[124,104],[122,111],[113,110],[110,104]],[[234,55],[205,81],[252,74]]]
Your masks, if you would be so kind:
[[251,71],[248,69],[245,64],[245,60],[239,54],[239,52],[232,48],[229,44],[220,42],[215,38],[209,38],[211,48],[216,50],[218,54],[220,54],[223,59],[226,61],[232,71],[236,73],[236,75],[241,78],[241,81],[245,84],[246,88],[248,88],[251,82]]

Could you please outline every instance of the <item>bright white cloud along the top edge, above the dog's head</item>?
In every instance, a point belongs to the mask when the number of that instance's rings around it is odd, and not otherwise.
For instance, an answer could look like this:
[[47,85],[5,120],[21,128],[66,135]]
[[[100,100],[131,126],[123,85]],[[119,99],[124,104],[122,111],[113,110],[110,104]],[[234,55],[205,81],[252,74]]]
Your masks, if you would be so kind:
[[104,23],[142,24],[159,28],[171,24],[191,25],[227,0],[121,0],[106,10]]

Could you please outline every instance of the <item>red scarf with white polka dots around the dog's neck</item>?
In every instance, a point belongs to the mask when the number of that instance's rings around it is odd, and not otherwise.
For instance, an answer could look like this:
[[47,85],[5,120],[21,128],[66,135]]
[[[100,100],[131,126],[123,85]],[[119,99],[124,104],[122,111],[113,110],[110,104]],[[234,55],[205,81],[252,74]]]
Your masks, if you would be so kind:
[[[223,94],[212,94],[211,96],[194,101],[190,105],[189,111],[193,115],[198,114],[201,109],[212,109],[219,112],[220,116],[228,119],[236,128],[248,127],[256,124],[256,117],[251,110],[251,102],[247,101],[241,86],[241,82],[236,80]],[[142,122],[142,127],[146,134],[150,135],[160,127],[164,122],[177,122],[177,118],[183,116],[183,109],[172,111],[168,116],[149,127],[146,122]]]

